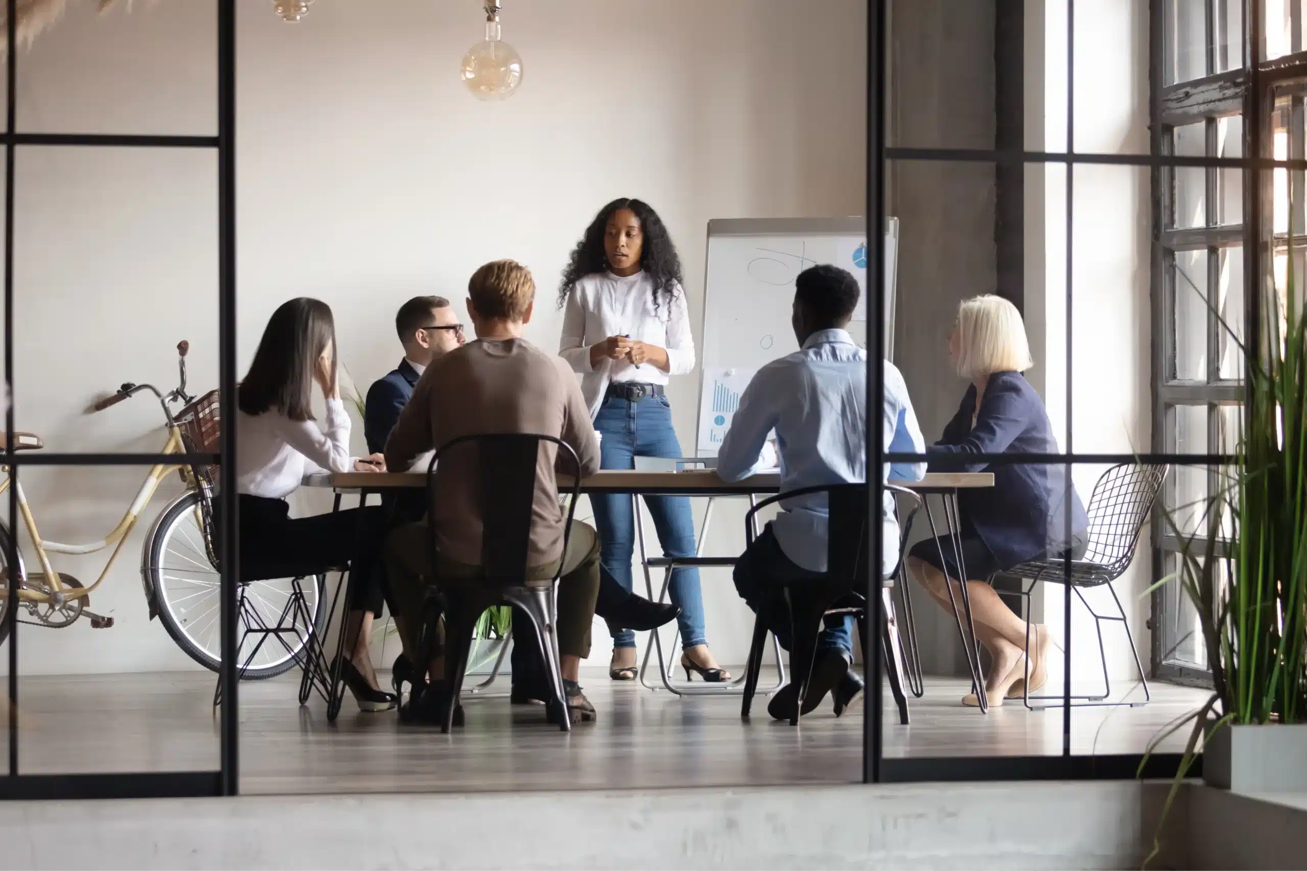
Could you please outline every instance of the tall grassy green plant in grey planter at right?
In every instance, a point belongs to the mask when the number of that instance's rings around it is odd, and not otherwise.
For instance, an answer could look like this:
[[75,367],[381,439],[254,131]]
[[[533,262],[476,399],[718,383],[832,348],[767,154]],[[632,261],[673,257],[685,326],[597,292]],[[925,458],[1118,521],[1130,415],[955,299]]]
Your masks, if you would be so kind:
[[1149,745],[1192,726],[1167,807],[1200,742],[1212,786],[1307,790],[1307,318],[1291,275],[1287,286],[1264,306],[1257,345],[1240,347],[1236,462],[1216,493],[1183,506],[1197,510],[1199,531],[1163,509],[1180,564],[1155,586],[1179,583],[1193,603],[1213,684]]

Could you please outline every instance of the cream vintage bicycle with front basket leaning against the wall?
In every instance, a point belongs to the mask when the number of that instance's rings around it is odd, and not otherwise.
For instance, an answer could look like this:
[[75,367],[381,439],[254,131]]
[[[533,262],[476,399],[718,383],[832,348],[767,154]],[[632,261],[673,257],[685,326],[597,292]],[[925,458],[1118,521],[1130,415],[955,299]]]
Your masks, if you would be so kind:
[[[218,391],[199,399],[186,392],[186,354],[190,343],[182,341],[176,349],[180,383],[175,390],[162,394],[153,384],[127,383],[114,395],[95,403],[93,411],[105,411],[141,392],[153,394],[163,411],[167,433],[161,454],[216,453],[221,422]],[[178,404],[183,407],[174,416],[173,407]],[[34,433],[14,433],[14,450],[39,450],[43,446],[41,437]],[[112,617],[90,609],[90,594],[108,577],[128,534],[150,504],[159,483],[173,472],[180,475],[187,489],[163,507],[145,536],[141,583],[150,619],[157,616],[173,641],[195,662],[218,671],[222,663],[220,574],[212,518],[207,517],[213,504],[212,468],[188,464],[150,467],[114,531],[90,544],[61,544],[42,539],[22,485],[17,485],[18,511],[41,568],[39,572],[27,573],[20,553],[18,621],[63,629],[86,617],[91,628],[112,626]],[[4,493],[10,485],[8,467],[0,466],[0,493]],[[5,617],[9,607],[10,535],[9,527],[0,522],[0,643],[9,628]],[[51,553],[86,555],[107,548],[112,548],[108,561],[90,586],[68,573],[56,572],[50,561]],[[295,666],[307,654],[306,647],[311,649],[318,626],[323,624],[327,608],[325,583],[325,575],[318,575],[310,579],[254,581],[240,586],[237,628],[240,647],[237,662],[242,677],[273,677]],[[276,628],[278,643],[264,643],[269,628]]]

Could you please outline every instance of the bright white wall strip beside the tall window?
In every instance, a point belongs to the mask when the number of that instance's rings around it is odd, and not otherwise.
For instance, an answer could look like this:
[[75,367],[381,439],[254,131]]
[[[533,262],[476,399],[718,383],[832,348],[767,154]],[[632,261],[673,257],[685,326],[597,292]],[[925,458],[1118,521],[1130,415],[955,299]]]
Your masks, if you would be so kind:
[[[1034,7],[1034,8],[1033,8]],[[1027,3],[1027,143],[1033,150],[1067,150],[1067,3]],[[1077,8],[1074,145],[1086,153],[1148,153],[1148,4],[1100,0]],[[1035,56],[1031,58],[1031,54]],[[1110,59],[1110,60],[1104,60]],[[1151,446],[1149,174],[1128,166],[1074,167],[1072,209],[1072,395],[1067,394],[1067,167],[1027,167],[1026,319],[1036,360],[1030,373],[1048,407],[1061,447],[1078,454],[1131,454]],[[1072,443],[1065,439],[1068,413]],[[1073,476],[1089,502],[1106,470],[1078,466]],[[1138,556],[1116,582],[1140,655],[1148,667],[1151,583],[1148,534]],[[1099,613],[1115,613],[1106,590],[1086,592]],[[1063,632],[1063,590],[1047,587],[1036,616]],[[1102,680],[1093,620],[1073,606],[1073,675],[1077,692]],[[1137,677],[1119,624],[1104,624],[1108,668]],[[1060,674],[1060,668],[1059,668]]]

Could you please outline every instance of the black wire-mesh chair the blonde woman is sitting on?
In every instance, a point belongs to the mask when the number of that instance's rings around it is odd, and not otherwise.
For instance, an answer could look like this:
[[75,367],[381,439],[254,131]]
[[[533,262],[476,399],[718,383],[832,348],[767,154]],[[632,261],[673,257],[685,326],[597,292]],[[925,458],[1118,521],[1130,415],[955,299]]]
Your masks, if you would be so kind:
[[[1069,583],[1076,591],[1076,598],[1094,617],[1094,628],[1098,633],[1098,653],[1103,664],[1103,693],[1087,696],[1072,696],[1073,700],[1082,700],[1085,705],[1129,705],[1140,708],[1146,705],[1151,696],[1148,689],[1148,674],[1144,663],[1140,662],[1138,649],[1134,646],[1134,637],[1131,633],[1129,623],[1125,619],[1125,609],[1112,587],[1112,581],[1121,577],[1125,569],[1134,560],[1134,551],[1138,547],[1140,534],[1144,524],[1153,513],[1153,504],[1162,489],[1162,483],[1170,471],[1168,466],[1153,463],[1120,463],[1108,468],[1094,484],[1094,493],[1089,500],[1089,544],[1085,556],[1070,560],[1069,566],[1065,558],[1060,560],[1034,560],[1002,572],[1019,581],[1030,581],[1029,586],[1022,585],[1018,592],[1026,602],[1026,613],[1030,613],[1030,596],[1039,582]],[[991,578],[992,579],[992,578]],[[1116,604],[1116,615],[1100,615],[1085,599],[1084,590],[1106,586]],[[1070,615],[1067,615],[1068,626]],[[1144,701],[1140,702],[1107,702],[1112,694],[1112,683],[1107,672],[1107,649],[1103,645],[1103,623],[1120,623],[1125,629],[1125,638],[1131,645],[1131,655],[1134,657],[1134,666],[1140,672],[1140,683],[1144,685]],[[1069,680],[1069,676],[1068,676]],[[1063,701],[1064,696],[1031,696],[1030,694],[1030,624],[1026,623],[1026,680],[1022,701],[1026,708],[1035,710],[1030,701]],[[1060,705],[1040,705],[1039,708],[1060,708]]]

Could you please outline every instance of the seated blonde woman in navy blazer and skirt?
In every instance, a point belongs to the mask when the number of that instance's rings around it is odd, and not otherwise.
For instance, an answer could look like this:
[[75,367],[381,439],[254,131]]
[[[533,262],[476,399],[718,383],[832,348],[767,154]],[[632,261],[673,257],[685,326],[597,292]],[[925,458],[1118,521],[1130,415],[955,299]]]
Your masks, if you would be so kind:
[[[996,572],[1035,558],[1057,558],[1069,549],[1084,556],[1089,521],[1065,467],[1046,463],[995,463],[984,454],[1056,454],[1057,439],[1044,403],[1021,374],[1031,367],[1026,328],[1016,306],[996,296],[966,299],[949,332],[949,357],[971,382],[958,413],[938,442],[927,449],[932,472],[993,472],[992,488],[962,490],[959,538],[966,578],[958,570],[953,541],[927,539],[908,553],[912,577],[946,611],[949,586],[961,607],[966,581],[976,636],[991,655],[985,693],[989,704],[1022,694],[1026,680],[1026,623],[989,586]],[[1070,506],[1068,539],[1067,506]],[[1030,691],[1048,680],[1051,638],[1030,626]],[[976,705],[975,694],[962,700]]]

